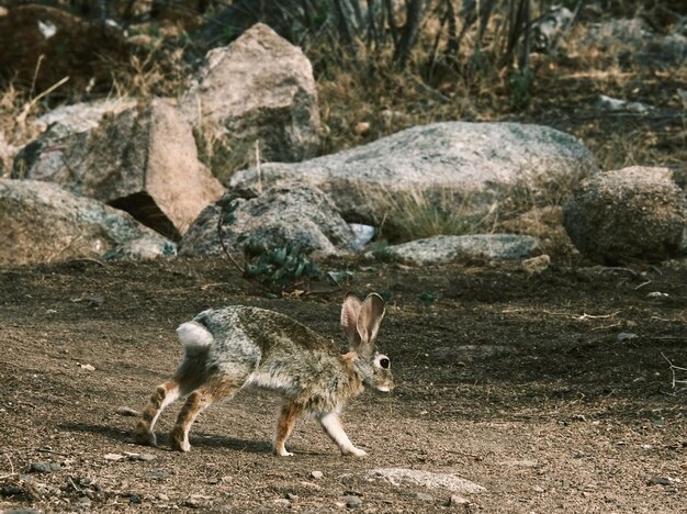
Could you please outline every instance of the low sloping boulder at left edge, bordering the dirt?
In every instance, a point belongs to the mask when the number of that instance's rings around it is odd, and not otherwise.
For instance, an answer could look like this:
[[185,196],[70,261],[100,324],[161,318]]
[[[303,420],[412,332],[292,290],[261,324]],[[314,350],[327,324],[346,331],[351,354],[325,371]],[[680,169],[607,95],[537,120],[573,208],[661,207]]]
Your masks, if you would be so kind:
[[174,247],[127,213],[55,183],[0,179],[0,265],[102,257],[138,239],[158,248],[146,258]]

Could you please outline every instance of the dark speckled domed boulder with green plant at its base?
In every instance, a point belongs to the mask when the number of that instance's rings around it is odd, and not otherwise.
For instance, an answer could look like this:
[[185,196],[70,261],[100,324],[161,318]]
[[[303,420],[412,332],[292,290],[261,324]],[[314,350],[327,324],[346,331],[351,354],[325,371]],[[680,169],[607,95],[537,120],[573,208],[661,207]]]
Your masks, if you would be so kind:
[[180,243],[180,255],[222,253],[217,223],[224,208],[222,233],[233,252],[248,241],[266,247],[288,242],[305,253],[337,255],[352,249],[354,235],[331,200],[316,188],[272,188],[249,200],[229,193],[203,211]]

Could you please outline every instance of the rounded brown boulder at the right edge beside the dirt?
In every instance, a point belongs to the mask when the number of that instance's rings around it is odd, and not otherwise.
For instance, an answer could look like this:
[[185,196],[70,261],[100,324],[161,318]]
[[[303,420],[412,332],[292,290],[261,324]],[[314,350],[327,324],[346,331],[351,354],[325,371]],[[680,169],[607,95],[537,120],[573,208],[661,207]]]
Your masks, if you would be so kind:
[[687,205],[666,168],[633,166],[585,180],[563,209],[579,252],[600,264],[685,255]]

